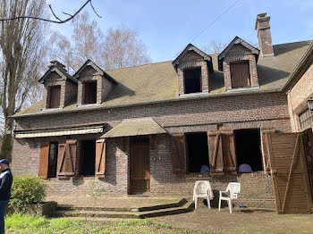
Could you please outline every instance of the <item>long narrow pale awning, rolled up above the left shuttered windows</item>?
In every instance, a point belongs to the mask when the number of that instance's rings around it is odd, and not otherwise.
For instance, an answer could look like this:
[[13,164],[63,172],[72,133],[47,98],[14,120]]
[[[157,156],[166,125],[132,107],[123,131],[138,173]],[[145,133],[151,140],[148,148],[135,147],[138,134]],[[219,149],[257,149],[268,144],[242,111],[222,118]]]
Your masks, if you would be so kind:
[[80,127],[59,130],[25,130],[16,131],[15,138],[44,138],[44,137],[60,137],[68,135],[93,134],[103,132],[103,126]]

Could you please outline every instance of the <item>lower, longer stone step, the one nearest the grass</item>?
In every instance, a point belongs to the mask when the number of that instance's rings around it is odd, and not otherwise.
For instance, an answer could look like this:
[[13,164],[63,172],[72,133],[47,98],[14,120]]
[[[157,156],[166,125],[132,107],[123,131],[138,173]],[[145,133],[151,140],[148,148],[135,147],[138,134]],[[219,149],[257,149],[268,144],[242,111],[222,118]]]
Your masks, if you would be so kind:
[[120,219],[144,219],[149,217],[157,217],[163,215],[170,215],[176,213],[188,213],[193,210],[193,202],[187,202],[180,207],[170,207],[164,209],[157,209],[152,211],[131,211],[131,212],[117,212],[117,211],[102,211],[102,210],[56,210],[53,213],[55,217],[97,217],[97,218],[120,218]]

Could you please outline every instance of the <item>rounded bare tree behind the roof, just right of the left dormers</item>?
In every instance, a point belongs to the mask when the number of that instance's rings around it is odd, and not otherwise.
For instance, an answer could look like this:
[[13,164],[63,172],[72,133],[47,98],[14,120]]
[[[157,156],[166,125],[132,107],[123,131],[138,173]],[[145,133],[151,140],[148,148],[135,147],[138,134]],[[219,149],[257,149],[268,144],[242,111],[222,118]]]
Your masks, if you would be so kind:
[[108,29],[102,56],[106,62],[106,70],[151,62],[147,47],[138,38],[136,31],[124,25],[117,29]]

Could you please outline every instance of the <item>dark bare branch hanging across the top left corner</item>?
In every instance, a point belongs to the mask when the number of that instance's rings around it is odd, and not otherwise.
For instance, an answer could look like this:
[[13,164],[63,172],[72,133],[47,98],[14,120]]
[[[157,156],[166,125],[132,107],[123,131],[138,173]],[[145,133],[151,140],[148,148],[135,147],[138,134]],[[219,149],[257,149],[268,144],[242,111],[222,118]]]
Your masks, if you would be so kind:
[[49,20],[49,19],[45,19],[45,18],[40,18],[40,17],[36,17],[36,16],[31,16],[31,15],[29,15],[29,16],[21,16],[21,15],[20,15],[20,16],[16,16],[16,17],[12,17],[12,18],[0,19],[0,21],[14,21],[14,20],[19,20],[19,19],[34,19],[34,20],[47,21],[47,22],[54,22],[54,23],[65,23],[65,22],[67,22],[67,21],[71,21],[71,20],[72,20],[78,13],[80,13],[80,11],[81,11],[87,4],[89,4],[89,3],[90,3],[90,5],[91,5],[93,11],[97,14],[97,17],[101,18],[101,16],[96,12],[95,8],[93,7],[93,5],[92,5],[92,3],[91,3],[91,0],[88,0],[88,1],[86,1],[85,4],[83,4],[83,5],[80,7],[80,9],[79,9],[76,13],[74,13],[74,14],[63,13],[63,14],[67,14],[67,15],[70,16],[69,18],[67,18],[67,19],[65,19],[65,20],[61,20],[59,17],[57,17],[57,16],[55,15],[55,12],[54,12],[53,9],[52,9],[51,4],[49,4],[49,8],[50,8],[52,14],[55,16],[55,19],[56,19],[57,21],[53,21],[53,20]]

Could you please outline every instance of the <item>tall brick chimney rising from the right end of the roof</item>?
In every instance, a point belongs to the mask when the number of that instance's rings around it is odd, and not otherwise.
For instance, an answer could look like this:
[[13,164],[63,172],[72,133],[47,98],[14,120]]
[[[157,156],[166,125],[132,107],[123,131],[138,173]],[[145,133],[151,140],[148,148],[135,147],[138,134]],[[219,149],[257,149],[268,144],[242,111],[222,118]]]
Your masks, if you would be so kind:
[[269,20],[271,17],[266,16],[266,13],[260,13],[257,16],[256,30],[258,31],[258,46],[261,55],[264,57],[274,56],[271,27]]

